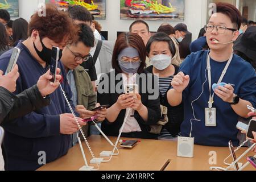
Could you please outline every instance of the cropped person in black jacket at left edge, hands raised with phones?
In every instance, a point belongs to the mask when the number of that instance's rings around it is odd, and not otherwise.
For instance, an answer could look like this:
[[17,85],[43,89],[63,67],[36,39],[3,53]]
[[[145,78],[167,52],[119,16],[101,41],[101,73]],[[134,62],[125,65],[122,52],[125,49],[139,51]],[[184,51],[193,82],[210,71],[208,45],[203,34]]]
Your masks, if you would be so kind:
[[[60,73],[59,68],[57,73]],[[15,96],[12,92],[15,91],[18,77],[18,65],[15,65],[13,71],[5,76],[0,70],[0,124],[47,106],[50,102],[47,95],[54,92],[59,86],[59,82],[51,83],[49,81],[52,76],[49,75],[48,71],[39,78],[36,85]],[[60,79],[61,76],[56,75],[56,80]],[[4,162],[0,147],[0,170],[3,170],[3,166]]]

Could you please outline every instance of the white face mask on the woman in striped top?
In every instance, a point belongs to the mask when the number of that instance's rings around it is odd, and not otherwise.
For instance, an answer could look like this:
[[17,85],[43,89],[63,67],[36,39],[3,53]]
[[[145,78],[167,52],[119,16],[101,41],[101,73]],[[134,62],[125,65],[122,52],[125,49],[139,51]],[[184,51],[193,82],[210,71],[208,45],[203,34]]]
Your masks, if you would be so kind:
[[150,58],[150,62],[156,69],[164,70],[172,63],[172,57],[168,55],[155,55]]

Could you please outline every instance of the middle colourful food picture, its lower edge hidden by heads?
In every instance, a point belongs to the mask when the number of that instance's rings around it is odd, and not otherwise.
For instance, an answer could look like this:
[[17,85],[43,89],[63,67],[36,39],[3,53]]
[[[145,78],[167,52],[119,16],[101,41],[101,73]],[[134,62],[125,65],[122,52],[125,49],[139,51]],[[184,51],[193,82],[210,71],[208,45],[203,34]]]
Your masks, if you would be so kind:
[[55,2],[60,9],[67,9],[68,5],[80,5],[90,11],[95,19],[106,19],[106,0],[48,0]]

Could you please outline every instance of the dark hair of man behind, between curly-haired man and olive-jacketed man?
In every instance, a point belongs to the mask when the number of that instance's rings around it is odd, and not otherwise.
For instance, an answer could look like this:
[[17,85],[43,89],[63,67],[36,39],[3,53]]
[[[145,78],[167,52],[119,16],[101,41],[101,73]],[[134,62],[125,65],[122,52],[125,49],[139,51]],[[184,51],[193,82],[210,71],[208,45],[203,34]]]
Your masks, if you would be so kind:
[[69,6],[68,14],[73,20],[92,23],[92,15],[90,12],[85,7],[80,5]]

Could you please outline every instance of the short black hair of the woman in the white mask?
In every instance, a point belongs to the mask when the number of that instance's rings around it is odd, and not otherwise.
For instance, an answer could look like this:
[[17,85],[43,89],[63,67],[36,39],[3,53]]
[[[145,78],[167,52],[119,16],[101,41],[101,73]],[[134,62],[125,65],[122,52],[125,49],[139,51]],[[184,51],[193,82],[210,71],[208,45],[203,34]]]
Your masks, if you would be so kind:
[[175,55],[176,53],[176,48],[175,48],[175,44],[174,42],[172,41],[172,39],[170,38],[169,35],[167,35],[166,33],[164,32],[157,32],[156,34],[154,34],[153,36],[151,36],[151,38],[148,40],[147,42],[147,45],[146,45],[146,51],[147,51],[147,54],[150,53],[150,47],[151,47],[151,44],[153,42],[167,42],[168,45],[169,45],[169,49],[172,53],[172,56]]

